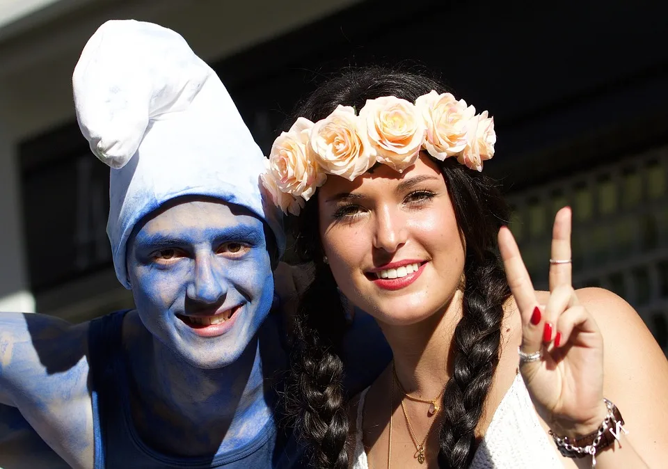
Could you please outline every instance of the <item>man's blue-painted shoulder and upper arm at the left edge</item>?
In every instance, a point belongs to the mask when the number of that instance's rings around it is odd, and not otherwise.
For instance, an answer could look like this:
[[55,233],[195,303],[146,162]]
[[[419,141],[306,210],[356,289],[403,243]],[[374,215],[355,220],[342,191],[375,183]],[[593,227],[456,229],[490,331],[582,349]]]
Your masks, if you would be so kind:
[[0,312],[0,402],[74,468],[93,465],[87,345],[88,324]]

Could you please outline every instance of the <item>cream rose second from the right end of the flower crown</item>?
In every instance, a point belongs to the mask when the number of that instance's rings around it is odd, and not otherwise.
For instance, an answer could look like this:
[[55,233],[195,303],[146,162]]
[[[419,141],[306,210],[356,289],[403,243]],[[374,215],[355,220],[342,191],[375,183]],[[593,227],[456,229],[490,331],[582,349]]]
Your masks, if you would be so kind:
[[432,157],[443,161],[459,154],[468,145],[470,120],[475,116],[475,108],[466,101],[457,101],[450,93],[438,94],[431,90],[415,100],[427,125],[424,149]]

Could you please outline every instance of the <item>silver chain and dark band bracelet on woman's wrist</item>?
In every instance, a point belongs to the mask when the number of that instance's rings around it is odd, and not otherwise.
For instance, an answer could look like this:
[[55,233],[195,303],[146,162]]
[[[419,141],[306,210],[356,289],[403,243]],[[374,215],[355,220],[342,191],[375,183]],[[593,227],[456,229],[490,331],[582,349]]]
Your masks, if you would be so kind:
[[623,427],[624,419],[619,413],[617,406],[612,404],[607,399],[603,399],[607,407],[607,415],[598,430],[589,435],[580,438],[568,438],[568,436],[557,436],[550,430],[552,439],[559,449],[562,456],[567,458],[584,458],[584,456],[591,456],[591,467],[596,467],[596,453],[603,450],[614,443],[614,440],[619,440],[619,433],[623,431],[628,434],[628,431]]

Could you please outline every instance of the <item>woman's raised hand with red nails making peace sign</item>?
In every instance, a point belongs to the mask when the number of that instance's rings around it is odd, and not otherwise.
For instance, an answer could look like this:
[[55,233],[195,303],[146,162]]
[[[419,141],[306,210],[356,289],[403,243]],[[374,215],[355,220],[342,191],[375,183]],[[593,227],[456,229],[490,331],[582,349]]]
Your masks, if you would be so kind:
[[[544,306],[536,299],[508,228],[501,228],[498,241],[508,285],[522,317],[520,351],[525,359],[520,360],[520,372],[536,411],[558,434],[587,434],[607,413],[603,337],[571,282],[571,209],[562,208],[555,216],[550,296]],[[533,360],[526,360],[527,354],[533,354]]]

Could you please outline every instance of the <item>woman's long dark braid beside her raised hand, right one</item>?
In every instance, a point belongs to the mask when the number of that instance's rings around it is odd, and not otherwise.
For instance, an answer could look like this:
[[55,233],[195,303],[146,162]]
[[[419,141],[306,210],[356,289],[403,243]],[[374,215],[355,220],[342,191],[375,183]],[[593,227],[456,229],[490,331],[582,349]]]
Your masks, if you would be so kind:
[[[452,340],[452,376],[443,392],[438,463],[442,468],[460,469],[472,460],[475,428],[500,358],[503,303],[510,291],[493,247],[498,228],[507,219],[507,208],[488,178],[452,163],[443,164],[443,175],[449,187],[459,189],[451,191],[451,197],[468,244],[462,317]],[[462,184],[463,177],[473,184]],[[470,216],[483,208],[488,214],[486,230],[480,230],[480,223]]]

